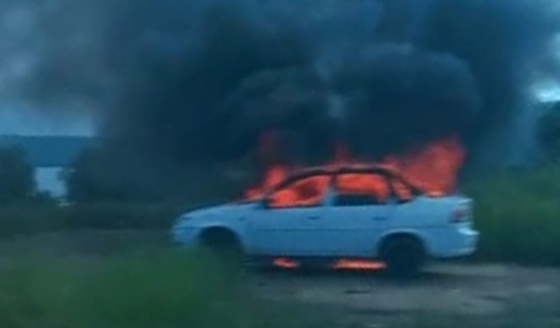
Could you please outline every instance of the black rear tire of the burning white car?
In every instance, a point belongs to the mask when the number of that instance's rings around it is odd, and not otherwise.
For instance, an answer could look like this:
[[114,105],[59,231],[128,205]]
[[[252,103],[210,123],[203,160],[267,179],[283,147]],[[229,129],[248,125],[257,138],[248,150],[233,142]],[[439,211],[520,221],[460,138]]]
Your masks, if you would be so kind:
[[389,275],[398,278],[413,277],[425,260],[422,243],[411,236],[389,237],[383,243],[380,255]]

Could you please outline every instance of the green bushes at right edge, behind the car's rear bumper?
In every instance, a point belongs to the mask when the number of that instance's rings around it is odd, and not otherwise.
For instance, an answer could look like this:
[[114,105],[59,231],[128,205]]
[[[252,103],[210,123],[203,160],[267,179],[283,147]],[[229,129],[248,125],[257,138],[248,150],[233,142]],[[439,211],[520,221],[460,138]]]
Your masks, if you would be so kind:
[[560,264],[560,167],[501,173],[467,186],[481,233],[479,257]]

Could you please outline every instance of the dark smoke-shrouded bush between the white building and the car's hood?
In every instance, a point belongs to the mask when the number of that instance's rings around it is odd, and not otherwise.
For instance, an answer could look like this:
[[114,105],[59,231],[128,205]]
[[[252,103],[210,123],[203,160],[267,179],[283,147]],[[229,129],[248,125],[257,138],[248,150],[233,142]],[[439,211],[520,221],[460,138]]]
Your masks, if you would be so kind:
[[66,172],[71,202],[191,202],[231,199],[241,181],[227,175],[224,165],[170,162],[118,147],[87,149]]

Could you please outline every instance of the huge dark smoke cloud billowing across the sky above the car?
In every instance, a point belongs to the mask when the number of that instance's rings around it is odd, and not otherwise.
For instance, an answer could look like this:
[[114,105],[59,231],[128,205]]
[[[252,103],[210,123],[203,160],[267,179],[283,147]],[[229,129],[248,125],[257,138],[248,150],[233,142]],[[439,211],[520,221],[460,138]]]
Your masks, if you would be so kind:
[[20,0],[2,12],[2,54],[27,58],[4,97],[87,106],[102,135],[180,165],[243,157],[269,130],[309,161],[338,142],[379,157],[449,135],[476,153],[524,110],[560,21],[552,0]]

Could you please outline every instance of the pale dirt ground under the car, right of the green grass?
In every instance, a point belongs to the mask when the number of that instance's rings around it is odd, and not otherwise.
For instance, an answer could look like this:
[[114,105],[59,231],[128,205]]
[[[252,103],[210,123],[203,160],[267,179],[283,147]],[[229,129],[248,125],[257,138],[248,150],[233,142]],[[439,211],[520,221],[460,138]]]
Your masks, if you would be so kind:
[[529,320],[531,326],[545,321],[546,326],[560,327],[560,269],[434,264],[406,281],[375,273],[272,271],[255,275],[254,287],[265,299],[338,311],[342,320],[356,321],[356,326],[403,321],[418,325],[418,320],[428,321],[428,326],[433,320],[480,326],[482,319],[491,326],[496,321],[511,326],[510,322]]

